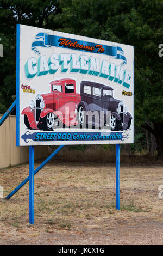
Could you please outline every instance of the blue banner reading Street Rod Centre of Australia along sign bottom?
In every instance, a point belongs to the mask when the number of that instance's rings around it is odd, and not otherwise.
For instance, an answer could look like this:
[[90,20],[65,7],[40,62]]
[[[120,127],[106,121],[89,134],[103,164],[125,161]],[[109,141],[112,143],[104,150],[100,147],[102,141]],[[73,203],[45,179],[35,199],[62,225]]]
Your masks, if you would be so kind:
[[22,135],[24,142],[55,141],[124,141],[129,138],[123,132],[33,132]]

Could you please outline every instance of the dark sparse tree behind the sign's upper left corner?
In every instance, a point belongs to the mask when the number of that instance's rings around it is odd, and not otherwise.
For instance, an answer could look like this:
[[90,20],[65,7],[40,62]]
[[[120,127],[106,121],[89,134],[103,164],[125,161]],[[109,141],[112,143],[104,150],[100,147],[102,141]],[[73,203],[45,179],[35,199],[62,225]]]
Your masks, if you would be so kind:
[[0,0],[0,113],[11,105],[16,95],[16,24],[57,29],[53,17],[60,12],[58,0]]

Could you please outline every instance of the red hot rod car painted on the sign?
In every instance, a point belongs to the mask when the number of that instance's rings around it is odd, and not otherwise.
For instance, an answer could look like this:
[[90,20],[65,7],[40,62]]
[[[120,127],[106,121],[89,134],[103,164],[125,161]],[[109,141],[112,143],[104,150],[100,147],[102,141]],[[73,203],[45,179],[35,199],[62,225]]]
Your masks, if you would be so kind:
[[77,125],[77,107],[81,100],[76,81],[60,79],[50,83],[51,93],[37,94],[22,111],[28,129],[52,131],[60,124]]

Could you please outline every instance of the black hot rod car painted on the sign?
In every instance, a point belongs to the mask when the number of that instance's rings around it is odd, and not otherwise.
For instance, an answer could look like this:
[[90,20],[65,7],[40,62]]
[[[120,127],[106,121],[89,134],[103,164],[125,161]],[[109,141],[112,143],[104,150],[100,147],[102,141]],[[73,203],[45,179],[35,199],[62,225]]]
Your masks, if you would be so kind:
[[[113,89],[110,86],[82,81],[80,83],[80,95],[81,101],[77,112],[80,127],[92,126],[97,129],[106,129],[106,126],[109,126],[111,131],[130,128],[133,118],[127,111],[127,106],[124,106],[124,102],[114,99]],[[92,119],[89,119],[89,113],[95,112],[98,113],[98,116],[92,114]]]

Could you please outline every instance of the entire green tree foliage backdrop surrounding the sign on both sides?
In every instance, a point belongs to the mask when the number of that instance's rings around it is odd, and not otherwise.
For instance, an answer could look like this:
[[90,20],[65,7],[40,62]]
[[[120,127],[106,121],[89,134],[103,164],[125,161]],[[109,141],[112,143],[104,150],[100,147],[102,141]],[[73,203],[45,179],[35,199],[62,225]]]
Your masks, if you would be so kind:
[[163,148],[162,13],[162,0],[0,0],[0,112],[15,95],[16,23],[121,42],[135,47],[136,136],[144,127]]

